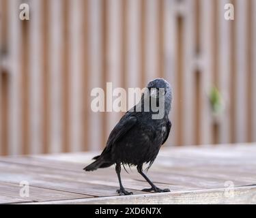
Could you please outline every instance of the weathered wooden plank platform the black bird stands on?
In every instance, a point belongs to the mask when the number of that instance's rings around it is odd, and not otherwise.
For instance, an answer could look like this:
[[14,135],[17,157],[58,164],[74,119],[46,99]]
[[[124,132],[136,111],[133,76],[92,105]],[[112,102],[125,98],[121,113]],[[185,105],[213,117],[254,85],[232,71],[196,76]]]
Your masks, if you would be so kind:
[[[147,175],[170,193],[145,193],[149,185],[132,168],[122,170],[133,196],[117,196],[113,167],[85,172],[98,153],[0,157],[0,203],[15,204],[255,204],[256,144],[162,148]],[[23,184],[29,196],[20,196]]]

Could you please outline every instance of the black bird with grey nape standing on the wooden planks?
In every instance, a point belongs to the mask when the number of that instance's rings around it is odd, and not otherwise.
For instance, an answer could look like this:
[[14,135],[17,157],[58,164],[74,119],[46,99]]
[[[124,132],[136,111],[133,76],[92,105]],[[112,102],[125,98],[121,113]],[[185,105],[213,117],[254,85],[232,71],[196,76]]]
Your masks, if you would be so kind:
[[[85,171],[92,171],[115,164],[120,186],[117,193],[120,195],[132,194],[132,192],[124,189],[121,181],[121,165],[126,164],[137,166],[139,174],[150,183],[151,188],[142,191],[170,191],[169,189],[159,189],[147,178],[143,172],[143,163],[149,163],[148,170],[156,159],[161,145],[169,136],[171,121],[168,115],[171,110],[172,91],[169,82],[162,78],[156,78],[149,82],[146,91],[143,93],[139,104],[128,110],[119,123],[115,125],[101,155],[94,157],[93,159],[96,161],[84,168]],[[156,102],[155,106],[152,103],[153,100]],[[147,103],[150,103],[150,110],[145,110]],[[141,110],[138,111],[140,107]],[[153,118],[157,114],[156,107],[164,107],[161,108],[163,114],[160,119]]]

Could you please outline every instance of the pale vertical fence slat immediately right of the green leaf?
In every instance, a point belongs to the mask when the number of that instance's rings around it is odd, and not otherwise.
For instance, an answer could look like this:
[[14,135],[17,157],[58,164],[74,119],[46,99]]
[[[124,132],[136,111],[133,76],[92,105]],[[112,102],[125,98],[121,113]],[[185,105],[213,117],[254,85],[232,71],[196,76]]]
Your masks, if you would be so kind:
[[218,87],[219,91],[223,97],[224,101],[224,111],[221,114],[221,119],[219,123],[219,138],[218,142],[220,143],[229,143],[230,142],[230,116],[229,116],[229,99],[233,97],[229,94],[230,87],[229,87],[229,79],[230,79],[230,44],[229,42],[229,35],[230,35],[230,25],[232,20],[225,20],[223,18],[224,5],[229,3],[227,0],[221,0],[218,3],[218,20],[219,22],[219,35],[218,35],[218,42],[219,42],[219,49],[218,49]]

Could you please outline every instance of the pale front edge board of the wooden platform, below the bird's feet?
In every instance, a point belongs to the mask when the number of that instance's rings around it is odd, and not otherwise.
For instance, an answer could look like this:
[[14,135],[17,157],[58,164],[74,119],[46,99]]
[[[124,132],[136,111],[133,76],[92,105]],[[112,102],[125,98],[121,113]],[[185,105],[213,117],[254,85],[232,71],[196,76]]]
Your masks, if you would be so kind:
[[[225,189],[175,191],[173,193],[152,193],[139,196],[53,201],[51,204],[255,204],[256,187],[234,189],[229,196]],[[44,203],[41,203],[44,204]]]

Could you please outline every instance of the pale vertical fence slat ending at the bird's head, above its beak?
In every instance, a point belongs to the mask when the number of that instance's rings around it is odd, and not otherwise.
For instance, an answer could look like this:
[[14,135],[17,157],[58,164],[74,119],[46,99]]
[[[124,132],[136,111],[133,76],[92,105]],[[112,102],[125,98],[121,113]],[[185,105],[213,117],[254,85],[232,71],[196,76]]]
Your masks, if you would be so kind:
[[145,72],[146,83],[158,76],[158,1],[147,0],[145,5]]

